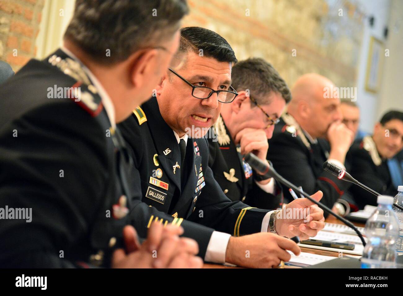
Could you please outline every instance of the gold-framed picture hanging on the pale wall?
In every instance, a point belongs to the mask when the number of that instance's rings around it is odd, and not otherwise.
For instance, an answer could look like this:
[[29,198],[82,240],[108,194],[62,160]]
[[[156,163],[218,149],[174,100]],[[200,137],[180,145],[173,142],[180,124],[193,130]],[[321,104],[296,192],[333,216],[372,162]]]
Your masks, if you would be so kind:
[[380,87],[382,77],[382,64],[384,57],[383,42],[374,36],[370,40],[370,48],[368,50],[367,70],[365,78],[365,90],[377,93]]

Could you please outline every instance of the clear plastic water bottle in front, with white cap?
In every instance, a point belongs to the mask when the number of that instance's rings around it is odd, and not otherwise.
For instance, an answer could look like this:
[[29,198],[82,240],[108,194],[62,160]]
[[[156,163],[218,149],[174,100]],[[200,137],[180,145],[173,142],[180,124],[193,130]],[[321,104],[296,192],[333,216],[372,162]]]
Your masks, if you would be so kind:
[[361,259],[361,268],[396,266],[395,243],[399,238],[399,222],[392,209],[393,197],[378,196],[378,207],[365,224],[368,242]]

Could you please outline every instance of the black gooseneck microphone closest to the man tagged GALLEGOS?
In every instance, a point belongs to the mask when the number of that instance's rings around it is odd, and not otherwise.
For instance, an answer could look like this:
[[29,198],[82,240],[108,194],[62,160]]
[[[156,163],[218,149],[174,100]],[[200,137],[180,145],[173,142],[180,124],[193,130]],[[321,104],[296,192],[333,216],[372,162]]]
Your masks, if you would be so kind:
[[312,197],[310,197],[307,193],[303,192],[297,186],[295,186],[294,184],[292,184],[291,182],[289,182],[288,180],[286,180],[285,178],[280,176],[270,164],[267,164],[266,162],[262,161],[260,158],[258,158],[253,153],[246,154],[244,159],[245,159],[245,162],[247,162],[256,171],[264,174],[268,178],[272,177],[272,178],[276,179],[278,182],[280,182],[281,184],[284,184],[285,186],[292,188],[295,192],[298,192],[299,194],[303,195],[304,197],[306,197],[307,199],[312,201],[312,203],[315,203],[316,205],[319,205],[320,207],[322,207],[322,209],[324,211],[326,211],[326,213],[329,213],[330,215],[336,217],[336,219],[342,221],[344,224],[346,224],[351,229],[353,229],[357,233],[359,238],[361,239],[362,244],[364,246],[366,245],[364,237],[362,236],[361,232],[359,232],[359,230],[354,226],[354,224],[352,224],[349,220],[341,217],[340,215],[337,215],[331,209],[326,207],[324,204],[312,199]]

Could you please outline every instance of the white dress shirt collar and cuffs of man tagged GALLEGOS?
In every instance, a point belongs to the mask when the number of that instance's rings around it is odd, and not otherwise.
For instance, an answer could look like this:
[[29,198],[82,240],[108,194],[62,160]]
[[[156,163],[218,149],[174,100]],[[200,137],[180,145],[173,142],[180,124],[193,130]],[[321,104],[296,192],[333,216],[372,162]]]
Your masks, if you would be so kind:
[[[173,131],[173,132],[174,132],[175,138],[178,141],[178,144],[179,144],[179,141],[181,141],[181,139],[185,140],[185,143],[187,144],[187,139],[188,139],[187,134],[185,134],[183,137],[179,137],[179,135],[175,131]],[[265,185],[263,185],[263,186],[265,186]],[[268,212],[263,217],[261,232],[268,231],[271,213],[272,213],[272,211]],[[213,231],[213,233],[210,237],[210,241],[208,242],[208,245],[207,245],[207,250],[206,250],[206,255],[204,256],[204,261],[213,262],[213,263],[225,263],[225,252],[226,252],[226,248],[228,246],[230,237],[231,237],[231,234],[219,232],[219,231]]]

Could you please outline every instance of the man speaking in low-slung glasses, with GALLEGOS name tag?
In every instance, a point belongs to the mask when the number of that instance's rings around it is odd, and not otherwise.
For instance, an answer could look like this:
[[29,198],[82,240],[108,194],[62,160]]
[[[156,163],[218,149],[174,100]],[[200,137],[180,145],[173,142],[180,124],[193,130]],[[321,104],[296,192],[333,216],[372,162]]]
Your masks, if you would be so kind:
[[[245,267],[273,267],[280,260],[288,261],[287,250],[295,254],[300,250],[282,236],[315,236],[324,227],[323,211],[299,199],[285,211],[270,212],[231,202],[224,195],[208,167],[208,143],[203,137],[217,120],[222,103],[237,96],[231,87],[231,68],[237,59],[224,38],[199,27],[181,29],[179,49],[183,64],[170,68],[156,88],[156,98],[120,124],[134,150],[137,174],[131,179],[138,180],[139,175],[143,191],[133,209],[136,228],[146,229],[153,220],[174,219],[185,236],[197,240],[205,261]],[[189,128],[194,137],[189,136]],[[320,200],[322,193],[312,197]],[[293,209],[307,216],[285,219],[283,214]]]

